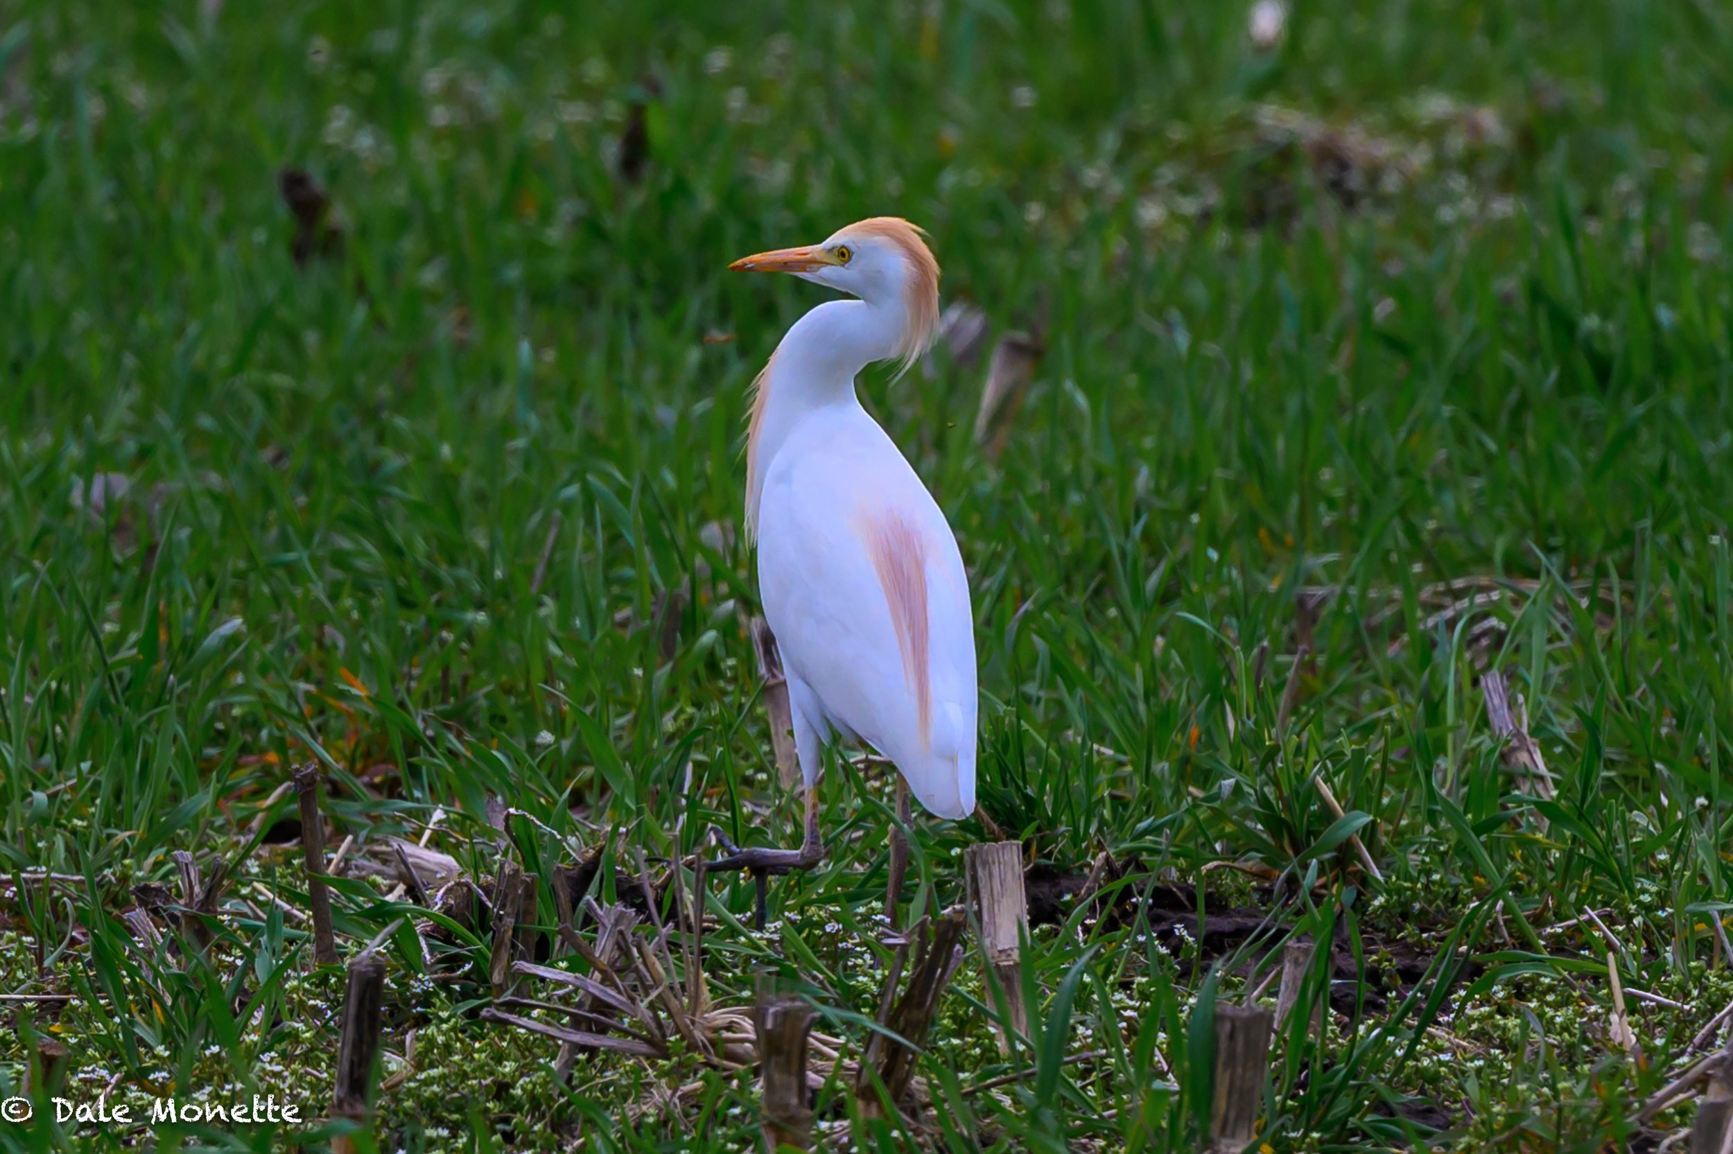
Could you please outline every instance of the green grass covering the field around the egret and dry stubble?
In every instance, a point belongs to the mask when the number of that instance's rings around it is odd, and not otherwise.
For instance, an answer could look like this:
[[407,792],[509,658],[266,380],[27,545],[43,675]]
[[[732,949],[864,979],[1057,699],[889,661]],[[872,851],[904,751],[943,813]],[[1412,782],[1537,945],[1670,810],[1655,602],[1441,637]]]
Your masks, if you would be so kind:
[[[1126,896],[1035,932],[1010,1059],[970,955],[922,1140],[1196,1149],[1213,1008],[1289,932],[1352,977],[1321,1038],[1275,1041],[1272,1151],[1690,1125],[1634,1111],[1733,1000],[1723,7],[1298,3],[1272,54],[1234,5],[1149,0],[210,7],[0,3],[0,988],[73,996],[5,1007],[0,1097],[57,1036],[78,1100],[276,1092],[315,1125],[343,982],[312,969],[298,851],[260,840],[295,764],[328,775],[333,844],[440,811],[428,844],[484,880],[503,851],[636,872],[711,825],[792,844],[752,558],[707,527],[738,525],[747,383],[821,291],[723,269],[889,211],[946,300],[1045,329],[996,461],[979,366],[861,386],[972,575],[984,809],[1057,870],[1111,854]],[[329,189],[340,258],[291,260],[284,165]],[[1504,768],[1489,669],[1556,799]],[[821,797],[832,856],[773,885],[766,932],[712,878],[705,969],[723,1007],[780,974],[853,1057],[891,795],[839,764]],[[960,899],[984,837],[918,821],[912,904]],[[241,863],[217,941],[139,946],[132,887],[182,849]],[[1158,878],[1269,925],[1175,944],[1135,901]],[[336,887],[345,958],[409,911]],[[1622,988],[1676,1003],[1627,998],[1639,1059],[1586,910]],[[750,1074],[691,1055],[561,1090],[556,1043],[477,1017],[485,937],[386,934],[385,1048],[418,1047],[380,1149],[756,1140]],[[1404,962],[1431,967],[1409,998]],[[851,1100],[828,1079],[823,1125]]]

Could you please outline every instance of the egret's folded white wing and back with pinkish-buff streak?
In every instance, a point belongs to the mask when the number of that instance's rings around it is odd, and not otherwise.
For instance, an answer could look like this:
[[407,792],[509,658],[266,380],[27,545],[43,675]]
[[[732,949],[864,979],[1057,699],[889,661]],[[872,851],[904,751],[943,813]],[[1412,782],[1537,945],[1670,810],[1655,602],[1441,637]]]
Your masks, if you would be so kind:
[[759,594],[790,681],[894,761],[927,809],[969,816],[969,577],[908,461],[860,405],[815,412],[766,470],[757,528]]

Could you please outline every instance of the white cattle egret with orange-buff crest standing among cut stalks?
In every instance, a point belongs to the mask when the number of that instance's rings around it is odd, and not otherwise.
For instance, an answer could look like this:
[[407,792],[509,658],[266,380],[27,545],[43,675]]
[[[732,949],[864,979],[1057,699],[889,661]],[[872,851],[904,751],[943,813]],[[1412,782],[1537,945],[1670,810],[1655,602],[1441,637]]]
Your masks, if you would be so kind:
[[[944,513],[854,395],[863,367],[898,359],[906,369],[932,340],[939,265],[920,229],[873,217],[730,269],[792,272],[854,296],[794,322],[759,373],[747,431],[747,534],[806,781],[801,849],[717,863],[763,873],[823,858],[818,776],[832,729],[891,759],[934,814],[974,811],[974,615]],[[898,801],[903,809],[901,783]]]

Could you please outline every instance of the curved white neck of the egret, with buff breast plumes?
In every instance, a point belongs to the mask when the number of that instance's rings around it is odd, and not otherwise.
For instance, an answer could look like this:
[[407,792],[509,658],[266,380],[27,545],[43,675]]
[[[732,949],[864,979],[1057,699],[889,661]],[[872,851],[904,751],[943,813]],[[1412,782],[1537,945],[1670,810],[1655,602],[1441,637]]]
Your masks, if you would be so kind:
[[764,473],[789,433],[820,409],[860,407],[856,374],[873,360],[898,355],[905,326],[899,300],[832,300],[794,322],[759,379],[747,433],[747,525],[757,522]]

